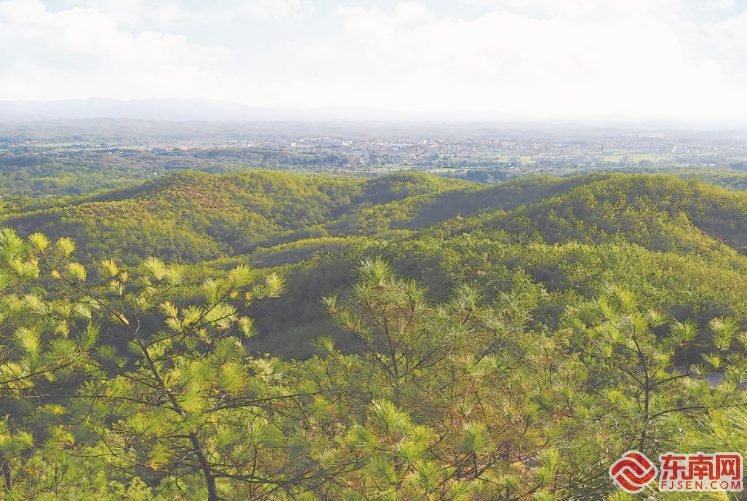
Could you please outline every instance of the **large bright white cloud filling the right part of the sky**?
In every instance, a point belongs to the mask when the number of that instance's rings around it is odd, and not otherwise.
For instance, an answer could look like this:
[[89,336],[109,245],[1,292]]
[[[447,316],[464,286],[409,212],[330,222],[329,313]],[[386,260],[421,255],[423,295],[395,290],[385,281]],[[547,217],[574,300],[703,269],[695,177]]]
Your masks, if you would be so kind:
[[[717,61],[691,57],[678,25],[655,16],[619,15],[665,11],[673,2],[631,0],[620,12],[599,2],[606,0],[534,1],[548,9],[573,4],[572,12],[561,8],[553,17],[495,9],[454,20],[418,10],[413,23],[402,22],[409,4],[390,12],[339,10],[348,33],[342,56],[347,71],[332,66],[320,71],[333,75],[328,85],[345,105],[365,96],[371,106],[412,111],[736,113],[733,100],[741,91],[729,85]],[[357,78],[345,78],[348,74]],[[306,94],[323,100],[326,93],[311,89]]]

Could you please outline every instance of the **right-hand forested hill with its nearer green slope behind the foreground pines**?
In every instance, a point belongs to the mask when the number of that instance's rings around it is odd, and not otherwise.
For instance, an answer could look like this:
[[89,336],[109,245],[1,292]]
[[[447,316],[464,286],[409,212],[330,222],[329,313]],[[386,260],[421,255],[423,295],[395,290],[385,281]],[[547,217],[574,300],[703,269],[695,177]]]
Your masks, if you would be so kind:
[[363,206],[321,231],[331,236],[249,256],[257,265],[311,259],[292,268],[293,287],[279,300],[294,319],[273,309],[258,318],[260,347],[309,354],[310,339],[337,332],[319,298],[344,293],[354,264],[379,254],[437,297],[479,284],[488,297],[530,305],[549,327],[610,285],[682,321],[747,321],[747,194],[695,180],[593,175],[464,186]]

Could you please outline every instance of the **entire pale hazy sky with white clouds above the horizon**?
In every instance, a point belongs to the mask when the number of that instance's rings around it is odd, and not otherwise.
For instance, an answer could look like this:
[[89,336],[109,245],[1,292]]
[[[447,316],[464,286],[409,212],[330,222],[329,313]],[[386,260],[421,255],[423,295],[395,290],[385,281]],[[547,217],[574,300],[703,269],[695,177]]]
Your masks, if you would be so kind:
[[747,0],[0,0],[0,100],[747,119]]

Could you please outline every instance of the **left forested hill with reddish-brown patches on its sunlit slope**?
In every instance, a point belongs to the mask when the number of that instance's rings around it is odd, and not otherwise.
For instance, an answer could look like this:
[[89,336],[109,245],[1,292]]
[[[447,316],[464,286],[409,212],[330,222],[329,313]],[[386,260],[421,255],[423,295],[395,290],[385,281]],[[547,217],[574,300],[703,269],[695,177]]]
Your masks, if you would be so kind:
[[[248,252],[282,235],[322,235],[321,226],[362,207],[466,186],[402,174],[372,180],[271,172],[184,172],[136,188],[2,216],[19,231],[75,237],[92,258],[157,255],[195,262]],[[131,260],[131,259],[130,259]]]

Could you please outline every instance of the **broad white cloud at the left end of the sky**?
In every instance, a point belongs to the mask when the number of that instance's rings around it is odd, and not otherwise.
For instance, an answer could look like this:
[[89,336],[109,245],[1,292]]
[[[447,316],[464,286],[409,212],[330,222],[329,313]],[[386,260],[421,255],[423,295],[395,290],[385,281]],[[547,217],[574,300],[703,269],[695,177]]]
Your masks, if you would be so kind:
[[0,95],[63,98],[189,95],[232,58],[219,46],[184,36],[120,31],[90,8],[50,12],[37,0],[0,3]]

